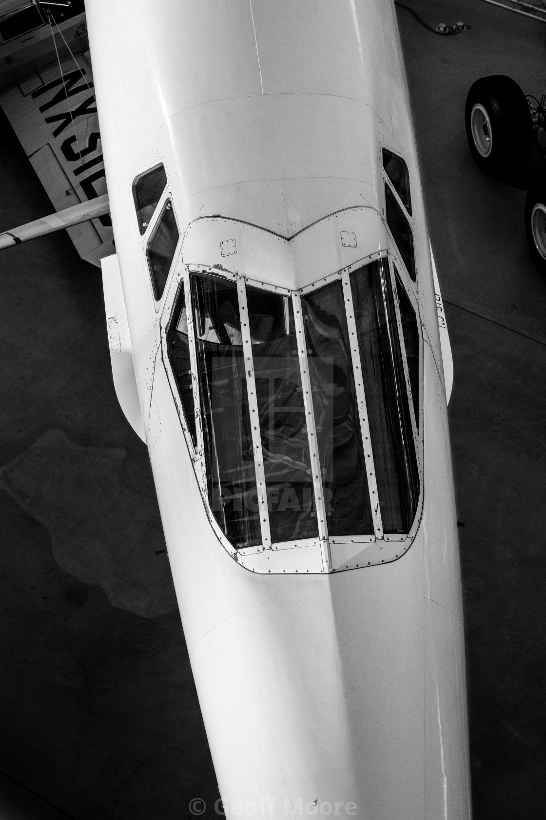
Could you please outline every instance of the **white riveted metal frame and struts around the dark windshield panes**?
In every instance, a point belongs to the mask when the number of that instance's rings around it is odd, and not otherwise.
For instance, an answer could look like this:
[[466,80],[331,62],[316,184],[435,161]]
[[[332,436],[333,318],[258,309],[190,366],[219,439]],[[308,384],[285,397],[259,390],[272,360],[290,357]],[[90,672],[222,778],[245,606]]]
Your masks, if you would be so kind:
[[[404,209],[405,211],[405,209]],[[396,534],[385,534],[382,530],[382,523],[381,523],[381,506],[377,503],[377,508],[374,507],[373,499],[377,499],[377,482],[375,478],[375,469],[373,467],[373,442],[369,435],[369,428],[368,428],[368,420],[367,420],[367,411],[366,411],[366,397],[364,394],[363,383],[362,381],[359,382],[359,373],[360,367],[362,367],[362,362],[360,361],[360,353],[358,347],[358,341],[356,340],[356,327],[355,327],[355,320],[354,320],[354,311],[353,311],[353,304],[352,304],[352,294],[350,292],[350,274],[353,271],[359,270],[359,268],[370,264],[370,262],[374,262],[380,258],[387,258],[388,259],[388,269],[390,272],[390,284],[391,289],[393,292],[393,301],[395,304],[395,314],[396,314],[396,321],[398,326],[398,333],[399,333],[399,344],[402,352],[402,358],[404,362],[404,378],[407,387],[407,399],[410,409],[410,414],[412,418],[412,426],[413,426],[413,441],[416,448],[416,457],[417,457],[417,469],[419,475],[419,499],[417,503],[416,514],[413,519],[413,524],[408,531],[407,534],[396,535]],[[417,400],[417,407],[419,408],[419,433],[417,435],[417,425],[416,420],[414,417],[413,411],[413,400],[411,396],[411,385],[409,384],[409,376],[408,376],[408,363],[405,353],[405,345],[404,345],[404,336],[402,331],[402,322],[400,317],[399,311],[399,300],[396,291],[396,277],[395,277],[395,267],[399,272],[399,280],[401,285],[404,287],[406,294],[408,295],[409,301],[413,307],[413,311],[415,312],[416,321],[417,321],[417,330],[418,330],[418,389],[419,389],[419,397]],[[214,530],[215,535],[218,537],[221,544],[223,544],[224,549],[228,551],[232,555],[232,558],[235,558],[238,563],[241,563],[242,566],[250,569],[252,572],[263,572],[263,573],[279,573],[279,572],[339,572],[345,569],[352,569],[354,567],[365,567],[365,566],[372,566],[377,565],[379,563],[390,563],[401,557],[408,549],[409,546],[412,544],[413,538],[417,532],[418,526],[421,522],[422,517],[422,505],[423,505],[423,443],[422,443],[422,430],[423,430],[423,420],[422,420],[422,367],[423,367],[423,335],[422,335],[422,326],[419,317],[419,310],[417,305],[417,299],[414,293],[414,283],[411,280],[411,277],[408,275],[408,272],[405,269],[405,266],[402,264],[401,260],[399,259],[398,253],[392,253],[389,251],[381,251],[377,253],[372,253],[368,255],[368,257],[363,257],[360,259],[359,262],[354,262],[354,264],[342,268],[340,271],[336,271],[329,276],[323,277],[321,280],[314,282],[312,285],[308,285],[307,287],[300,289],[300,290],[290,290],[278,287],[277,285],[268,285],[266,282],[262,282],[260,280],[252,280],[246,276],[240,276],[239,274],[230,273],[228,271],[222,271],[215,267],[211,266],[198,266],[192,265],[187,266],[184,265],[181,257],[178,255],[178,260],[175,266],[176,274],[175,276],[169,275],[169,280],[167,285],[165,286],[165,293],[163,295],[163,303],[164,303],[164,310],[161,315],[160,319],[160,329],[161,329],[161,347],[163,351],[163,362],[165,366],[165,371],[167,372],[167,376],[169,379],[169,385],[171,387],[171,392],[174,397],[174,403],[177,408],[178,417],[180,418],[183,435],[186,438],[187,446],[189,452],[192,456],[192,464],[196,474],[197,482],[201,489],[201,496],[203,499],[203,503],[205,506],[205,510],[207,512],[207,517],[210,521],[210,524]],[[199,395],[199,385],[197,382],[197,354],[196,354],[196,335],[195,335],[195,326],[194,326],[194,317],[192,311],[192,295],[191,295],[191,276],[192,274],[208,274],[211,276],[219,277],[223,280],[230,280],[237,284],[237,294],[239,297],[239,307],[240,307],[240,315],[243,317],[246,312],[246,286],[254,287],[257,289],[263,289],[270,293],[282,294],[284,296],[291,296],[292,305],[294,308],[294,321],[295,321],[295,328],[296,328],[296,338],[298,339],[298,356],[300,362],[300,376],[302,380],[302,388],[303,388],[303,395],[304,395],[304,406],[305,406],[305,415],[307,419],[307,429],[308,429],[308,436],[309,436],[309,454],[311,458],[311,467],[313,471],[313,481],[314,481],[314,496],[315,496],[315,508],[317,510],[318,516],[318,538],[310,538],[310,539],[300,539],[300,540],[291,540],[282,543],[271,543],[270,531],[269,531],[269,517],[268,517],[268,509],[267,509],[267,500],[265,494],[265,482],[264,482],[264,494],[261,497],[262,502],[260,507],[264,510],[264,513],[260,515],[260,527],[262,532],[262,544],[259,544],[255,547],[244,547],[241,549],[236,549],[233,547],[230,541],[228,541],[226,535],[224,535],[223,531],[221,530],[218,522],[216,521],[214,514],[210,508],[209,498],[208,498],[208,491],[206,486],[206,467],[205,467],[205,456],[204,456],[204,440],[203,440],[203,429],[202,429],[202,421],[201,421],[201,400]],[[305,326],[303,320],[303,312],[301,310],[301,296],[312,292],[314,289],[322,289],[325,285],[330,284],[333,281],[339,280],[341,281],[343,294],[345,297],[345,301],[348,301],[348,305],[345,306],[345,316],[347,317],[348,328],[350,332],[350,342],[351,342],[351,357],[353,362],[353,373],[354,373],[354,382],[355,386],[357,387],[357,399],[359,403],[359,417],[360,417],[360,427],[361,433],[363,435],[363,449],[364,454],[366,456],[367,462],[367,473],[368,473],[368,492],[370,494],[370,499],[372,502],[372,515],[373,515],[373,522],[374,522],[374,533],[366,533],[366,534],[355,534],[351,536],[330,536],[327,532],[327,516],[326,516],[326,509],[324,503],[324,496],[323,496],[323,482],[322,482],[322,474],[320,471],[320,465],[318,460],[318,453],[316,447],[316,426],[314,421],[314,409],[313,409],[313,402],[311,399],[311,389],[310,389],[310,382],[309,382],[309,364],[307,361],[307,348],[305,343]],[[192,435],[187,425],[186,417],[184,415],[184,410],[182,406],[182,402],[179,398],[178,394],[178,386],[176,384],[176,380],[174,378],[174,372],[172,367],[170,367],[169,356],[168,356],[168,347],[167,347],[167,333],[169,331],[169,324],[171,319],[171,314],[174,309],[174,305],[178,301],[178,294],[180,292],[180,286],[183,283],[184,285],[184,298],[186,303],[186,315],[187,315],[187,327],[188,327],[188,340],[189,340],[189,349],[190,349],[190,360],[192,365],[192,385],[193,385],[193,400],[194,400],[194,408],[195,408],[195,418],[196,418],[196,447],[194,447],[192,442]],[[241,327],[242,330],[242,327]],[[354,344],[352,335],[354,334]],[[251,357],[251,344],[250,344],[250,335],[245,337],[243,335],[243,355],[245,357],[246,363],[246,381],[247,381],[247,389],[249,391],[249,405],[253,406],[253,403],[256,402],[255,399],[255,380],[254,380],[254,365]],[[248,370],[250,368],[251,376],[248,376]],[[250,404],[252,403],[252,405]],[[257,412],[257,404],[255,408]],[[368,442],[368,443],[367,443]],[[256,453],[261,453],[261,440],[259,438],[259,431],[257,431],[256,435],[254,435],[253,430],[253,448],[255,450],[255,467],[256,467],[256,479],[257,479],[257,489],[259,487],[258,482],[260,480],[264,481],[264,464],[263,458],[259,455],[256,458]],[[259,495],[260,498],[260,495]],[[378,501],[381,499],[377,499]],[[263,520],[265,518],[265,520]],[[354,551],[354,549],[358,549],[359,546],[362,548],[363,553],[359,558],[357,563],[354,562],[353,559],[349,559],[346,562],[341,561],[340,558],[335,553],[343,553],[343,551],[350,548]],[[363,557],[362,557],[363,556]],[[270,563],[266,563],[270,562]],[[311,568],[309,569],[309,565]],[[320,567],[320,568],[319,568]]]

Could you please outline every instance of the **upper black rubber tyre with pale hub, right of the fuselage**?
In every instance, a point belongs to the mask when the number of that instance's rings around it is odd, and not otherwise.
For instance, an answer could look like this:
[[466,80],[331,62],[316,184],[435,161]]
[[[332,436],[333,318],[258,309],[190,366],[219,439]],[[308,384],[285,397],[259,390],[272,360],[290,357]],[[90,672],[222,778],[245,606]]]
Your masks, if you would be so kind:
[[510,178],[526,170],[533,153],[533,120],[514,80],[502,74],[476,80],[464,119],[470,153],[482,171]]

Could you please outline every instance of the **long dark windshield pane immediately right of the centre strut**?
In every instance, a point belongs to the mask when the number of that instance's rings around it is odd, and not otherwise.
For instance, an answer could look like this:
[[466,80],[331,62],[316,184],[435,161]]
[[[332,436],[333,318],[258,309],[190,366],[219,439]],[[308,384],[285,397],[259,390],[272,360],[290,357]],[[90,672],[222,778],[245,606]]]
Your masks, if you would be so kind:
[[302,297],[330,535],[374,531],[341,281]]

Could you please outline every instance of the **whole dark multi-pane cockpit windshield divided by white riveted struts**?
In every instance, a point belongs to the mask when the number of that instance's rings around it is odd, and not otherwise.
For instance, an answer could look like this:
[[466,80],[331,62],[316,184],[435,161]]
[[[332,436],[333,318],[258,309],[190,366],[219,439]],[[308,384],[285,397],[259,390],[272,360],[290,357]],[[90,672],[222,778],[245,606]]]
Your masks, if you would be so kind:
[[169,362],[210,510],[237,550],[413,525],[415,309],[388,257],[349,271],[295,293],[204,272],[178,290]]

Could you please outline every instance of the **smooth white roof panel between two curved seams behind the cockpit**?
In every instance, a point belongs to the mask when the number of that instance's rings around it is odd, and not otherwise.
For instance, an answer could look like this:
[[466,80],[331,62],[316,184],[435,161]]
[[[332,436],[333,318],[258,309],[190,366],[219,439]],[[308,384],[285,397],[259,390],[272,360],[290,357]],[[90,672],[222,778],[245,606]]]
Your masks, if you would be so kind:
[[[363,140],[362,134],[373,133],[377,127],[376,114],[365,104],[323,94],[214,101],[178,112],[164,126],[177,156],[194,157],[182,166],[189,196],[257,180],[301,180],[302,185],[316,178],[361,180],[367,186],[369,204],[376,207],[377,148]],[[265,134],[269,136],[264,152],[259,146]],[[246,151],[234,151],[237,144],[245,145]],[[339,153],[332,152],[332,144],[340,146]],[[306,193],[305,188],[298,190],[305,207],[314,209],[312,216],[301,217],[308,225],[314,221],[317,205]],[[319,204],[322,210],[318,213],[323,216],[326,203]],[[294,208],[295,203],[285,200],[285,207]],[[247,202],[240,218],[251,221],[250,209]]]

